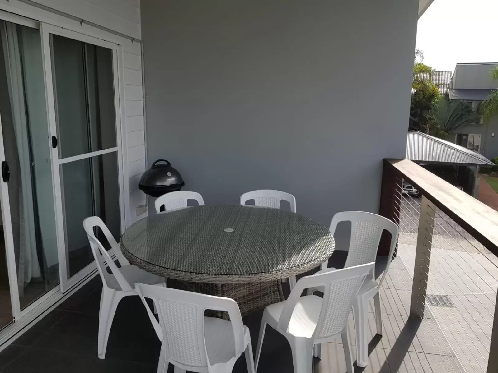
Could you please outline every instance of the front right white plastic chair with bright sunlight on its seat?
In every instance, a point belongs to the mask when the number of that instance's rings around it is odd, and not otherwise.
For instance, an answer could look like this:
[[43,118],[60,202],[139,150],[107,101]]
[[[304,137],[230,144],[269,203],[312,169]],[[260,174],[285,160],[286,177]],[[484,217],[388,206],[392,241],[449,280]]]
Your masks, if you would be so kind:
[[[372,268],[373,263],[369,263],[336,271],[326,269],[303,277],[296,282],[287,300],[267,306],[259,329],[256,370],[268,324],[287,338],[292,350],[294,372],[312,373],[314,344],[329,342],[340,334],[346,367],[348,373],[353,373],[348,317],[355,296]],[[312,286],[323,286],[324,297],[301,296],[303,290]]]

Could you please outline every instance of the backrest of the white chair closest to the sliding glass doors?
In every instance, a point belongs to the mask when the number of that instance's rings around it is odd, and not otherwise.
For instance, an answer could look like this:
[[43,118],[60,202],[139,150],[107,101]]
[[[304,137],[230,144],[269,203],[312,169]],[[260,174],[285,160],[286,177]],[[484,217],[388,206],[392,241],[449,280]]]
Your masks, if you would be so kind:
[[[100,273],[100,277],[102,278],[102,282],[104,286],[115,290],[124,290],[124,291],[132,291],[133,288],[126,281],[121,274],[118,266],[113,262],[111,256],[106,251],[102,243],[95,236],[94,227],[100,227],[107,240],[111,244],[111,247],[115,249],[116,257],[118,258],[120,264],[129,265],[128,261],[124,258],[121,250],[119,249],[119,245],[114,239],[113,235],[107,228],[106,224],[102,221],[102,219],[98,216],[90,216],[83,220],[83,227],[85,228],[85,232],[87,232],[88,241],[90,242],[90,247],[92,249],[93,256],[95,258],[95,262],[97,263],[97,268]],[[118,251],[116,251],[118,249]],[[119,255],[118,255],[119,252]],[[123,259],[120,258],[123,257]],[[123,260],[123,261],[122,261]],[[107,272],[106,264],[111,269],[111,273]],[[114,281],[113,281],[114,280]],[[116,282],[118,283],[120,288],[116,287]]]

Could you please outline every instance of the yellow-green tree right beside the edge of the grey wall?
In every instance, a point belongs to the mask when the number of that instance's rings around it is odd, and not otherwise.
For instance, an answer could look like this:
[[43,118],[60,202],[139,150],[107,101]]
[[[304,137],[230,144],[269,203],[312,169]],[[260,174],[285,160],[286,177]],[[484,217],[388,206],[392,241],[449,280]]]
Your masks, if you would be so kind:
[[[415,52],[416,57],[423,58],[423,53],[419,50]],[[411,96],[410,119],[408,122],[409,131],[429,131],[429,112],[439,97],[438,85],[431,81],[433,69],[422,62],[415,62],[413,65],[412,88],[415,93]]]

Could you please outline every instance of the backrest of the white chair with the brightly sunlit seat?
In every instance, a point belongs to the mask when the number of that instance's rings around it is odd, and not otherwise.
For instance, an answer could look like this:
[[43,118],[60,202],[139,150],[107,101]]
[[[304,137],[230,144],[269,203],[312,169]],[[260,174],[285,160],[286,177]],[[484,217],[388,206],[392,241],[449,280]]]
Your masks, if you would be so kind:
[[315,343],[321,343],[340,333],[348,323],[353,300],[374,264],[372,262],[342,270],[328,268],[299,279],[285,301],[277,328],[287,332],[296,303],[305,289],[323,286],[322,308],[313,338]]

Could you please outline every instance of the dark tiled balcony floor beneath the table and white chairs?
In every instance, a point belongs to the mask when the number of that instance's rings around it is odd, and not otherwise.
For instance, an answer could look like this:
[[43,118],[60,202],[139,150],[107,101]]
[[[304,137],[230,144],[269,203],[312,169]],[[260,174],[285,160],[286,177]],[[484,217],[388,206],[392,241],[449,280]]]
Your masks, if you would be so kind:
[[[336,251],[331,263],[341,268],[344,260],[344,252]],[[408,271],[396,259],[381,293],[383,336],[374,337],[375,322],[371,308],[370,363],[365,369],[356,367],[356,372],[462,372],[431,315],[424,320],[408,317],[409,284],[411,278]],[[0,353],[0,372],[155,373],[159,342],[138,297],[126,297],[120,303],[109,337],[107,357],[105,360],[97,358],[101,288],[100,278],[93,279],[14,341]],[[244,318],[254,349],[261,314],[262,311],[259,311]],[[267,328],[266,333],[258,372],[293,372],[290,348],[285,338],[271,328]],[[350,333],[355,344],[352,320]],[[322,360],[315,360],[314,371],[346,372],[340,341],[325,344]],[[171,366],[168,372],[173,372]],[[244,357],[236,364],[234,372],[247,372]]]

